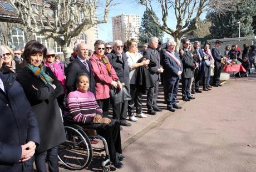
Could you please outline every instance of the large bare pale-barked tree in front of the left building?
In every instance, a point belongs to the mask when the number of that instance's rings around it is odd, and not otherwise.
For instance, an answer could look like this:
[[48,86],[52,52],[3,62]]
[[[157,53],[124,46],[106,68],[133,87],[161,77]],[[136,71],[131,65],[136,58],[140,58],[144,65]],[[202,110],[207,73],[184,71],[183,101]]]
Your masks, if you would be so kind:
[[[96,24],[107,22],[112,1],[9,0],[21,17],[24,31],[52,38],[61,46],[65,58],[72,38]],[[98,8],[102,17],[96,16]]]

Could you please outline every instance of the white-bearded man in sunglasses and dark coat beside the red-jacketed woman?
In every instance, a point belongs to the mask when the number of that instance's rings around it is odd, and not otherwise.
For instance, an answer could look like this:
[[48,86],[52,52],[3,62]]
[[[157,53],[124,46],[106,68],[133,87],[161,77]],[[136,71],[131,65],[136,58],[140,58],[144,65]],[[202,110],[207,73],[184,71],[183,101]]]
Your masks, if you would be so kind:
[[[119,81],[122,83],[122,85],[125,85],[125,87],[130,92],[130,70],[127,62],[128,57],[123,52],[122,47],[122,41],[116,40],[112,52],[107,54],[107,57],[109,58],[109,62],[112,67],[115,69]],[[112,106],[113,118],[119,120],[120,125],[131,126],[130,123],[126,122],[128,101],[126,100],[124,103],[119,104],[115,104],[114,102],[112,102]]]

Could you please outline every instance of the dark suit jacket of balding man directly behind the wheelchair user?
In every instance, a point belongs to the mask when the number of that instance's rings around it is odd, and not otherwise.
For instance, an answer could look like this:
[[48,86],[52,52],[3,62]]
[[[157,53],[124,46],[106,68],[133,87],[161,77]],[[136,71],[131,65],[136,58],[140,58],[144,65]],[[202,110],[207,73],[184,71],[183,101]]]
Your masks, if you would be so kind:
[[80,73],[86,73],[90,80],[90,90],[88,91],[95,95],[95,79],[91,70],[91,62],[88,60],[86,60],[86,62],[89,65],[90,72],[88,72],[85,65],[77,58],[68,64],[67,68],[65,69],[67,94],[77,89],[76,76]]

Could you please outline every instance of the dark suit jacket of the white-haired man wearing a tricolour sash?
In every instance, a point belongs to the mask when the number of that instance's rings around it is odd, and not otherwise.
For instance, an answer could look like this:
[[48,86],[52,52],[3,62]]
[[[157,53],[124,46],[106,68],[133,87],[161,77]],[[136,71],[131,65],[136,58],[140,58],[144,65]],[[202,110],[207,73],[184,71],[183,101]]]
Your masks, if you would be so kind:
[[176,80],[181,79],[181,75],[178,75],[179,70],[183,71],[183,64],[179,58],[178,53],[174,53],[175,57],[180,61],[180,67],[178,63],[168,54],[163,54],[163,68],[164,68],[164,80]]

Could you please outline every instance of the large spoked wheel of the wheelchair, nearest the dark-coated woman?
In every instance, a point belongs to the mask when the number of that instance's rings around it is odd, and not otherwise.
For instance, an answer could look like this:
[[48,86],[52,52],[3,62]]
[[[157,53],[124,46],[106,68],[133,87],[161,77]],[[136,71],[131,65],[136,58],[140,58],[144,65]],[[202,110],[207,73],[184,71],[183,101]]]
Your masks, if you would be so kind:
[[66,126],[67,141],[58,146],[58,158],[69,169],[80,170],[90,165],[92,147],[85,132],[76,125]]

